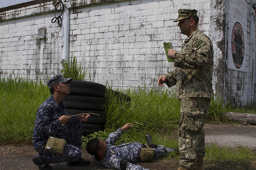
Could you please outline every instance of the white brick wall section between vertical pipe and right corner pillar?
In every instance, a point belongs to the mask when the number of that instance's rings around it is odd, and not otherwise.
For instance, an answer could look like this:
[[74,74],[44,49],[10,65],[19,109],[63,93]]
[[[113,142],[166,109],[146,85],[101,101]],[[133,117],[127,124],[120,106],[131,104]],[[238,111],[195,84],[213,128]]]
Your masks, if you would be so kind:
[[199,29],[208,35],[209,2],[188,2],[136,0],[72,10],[70,54],[91,68],[96,81],[123,88],[158,86],[158,77],[174,69],[163,42],[180,50],[186,38],[173,22],[177,10],[200,9]]

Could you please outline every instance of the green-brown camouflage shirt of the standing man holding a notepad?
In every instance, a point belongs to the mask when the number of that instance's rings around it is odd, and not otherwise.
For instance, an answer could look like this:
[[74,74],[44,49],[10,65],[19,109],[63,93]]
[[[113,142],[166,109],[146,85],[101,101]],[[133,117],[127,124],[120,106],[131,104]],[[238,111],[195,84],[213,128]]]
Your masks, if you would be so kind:
[[211,99],[214,50],[205,34],[196,30],[182,43],[174,66],[178,68],[165,76],[168,87],[177,86],[176,98]]

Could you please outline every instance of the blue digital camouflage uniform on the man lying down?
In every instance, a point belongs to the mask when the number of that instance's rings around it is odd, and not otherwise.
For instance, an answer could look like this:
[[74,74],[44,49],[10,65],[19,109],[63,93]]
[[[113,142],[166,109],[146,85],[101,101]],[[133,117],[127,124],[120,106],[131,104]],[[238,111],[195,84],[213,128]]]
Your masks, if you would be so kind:
[[[106,144],[108,145],[108,150],[106,151],[105,157],[98,161],[94,155],[92,158],[98,164],[103,166],[113,168],[113,169],[120,169],[120,161],[128,161],[126,170],[133,169],[133,170],[140,170],[146,169],[140,165],[132,164],[131,162],[138,162],[140,161],[140,150],[142,148],[142,144],[139,142],[130,142],[130,143],[122,143],[120,145],[113,145],[117,141],[117,139],[123,134],[121,128],[119,128],[116,132],[110,133],[109,138],[105,140]],[[173,149],[165,148],[162,145],[157,145],[155,149],[154,159],[162,158],[166,154],[173,151]]]

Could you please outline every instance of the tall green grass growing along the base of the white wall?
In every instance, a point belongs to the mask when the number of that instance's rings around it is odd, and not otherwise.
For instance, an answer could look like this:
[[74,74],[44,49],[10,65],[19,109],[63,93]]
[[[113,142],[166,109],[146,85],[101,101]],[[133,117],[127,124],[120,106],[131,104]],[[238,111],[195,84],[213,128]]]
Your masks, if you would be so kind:
[[[0,143],[30,143],[36,110],[50,96],[47,85],[23,78],[0,79],[0,92]],[[122,93],[132,100],[127,102]],[[140,133],[166,135],[177,129],[180,101],[172,90],[159,92],[158,89],[140,87],[108,96],[105,128],[109,132],[126,123],[134,125],[131,134],[127,134],[131,136]],[[208,116],[220,119],[223,108],[223,100],[213,98]]]

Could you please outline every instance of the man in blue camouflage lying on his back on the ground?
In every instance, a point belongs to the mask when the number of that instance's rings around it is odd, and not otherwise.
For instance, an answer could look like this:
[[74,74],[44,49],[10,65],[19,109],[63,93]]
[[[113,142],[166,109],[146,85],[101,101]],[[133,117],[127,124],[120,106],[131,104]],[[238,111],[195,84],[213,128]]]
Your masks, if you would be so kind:
[[[132,124],[126,124],[122,128],[119,128],[116,132],[109,134],[109,138],[105,141],[95,138],[90,140],[86,149],[96,163],[105,167],[113,169],[133,169],[133,170],[149,170],[143,168],[140,165],[135,165],[131,162],[140,161],[140,150],[143,147],[142,143],[130,142],[122,143],[120,145],[114,145],[117,139],[126,131],[129,131]],[[165,148],[162,145],[156,145],[155,154],[153,159],[159,159],[164,157],[170,152],[175,152],[174,149]]]

